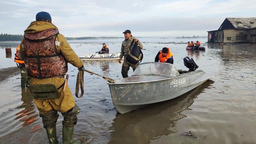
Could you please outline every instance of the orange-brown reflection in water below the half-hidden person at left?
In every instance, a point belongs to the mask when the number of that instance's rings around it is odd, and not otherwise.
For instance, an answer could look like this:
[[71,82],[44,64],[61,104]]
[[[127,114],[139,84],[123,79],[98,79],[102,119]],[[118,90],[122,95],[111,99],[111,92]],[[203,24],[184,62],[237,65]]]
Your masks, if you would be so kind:
[[33,103],[33,96],[28,89],[22,89],[21,91],[21,101],[22,105],[16,107],[15,109],[22,109],[20,112],[16,113],[15,120],[23,122],[22,127],[32,124],[38,120],[38,114],[35,114],[35,104]]

